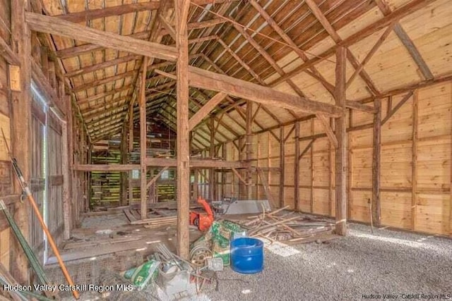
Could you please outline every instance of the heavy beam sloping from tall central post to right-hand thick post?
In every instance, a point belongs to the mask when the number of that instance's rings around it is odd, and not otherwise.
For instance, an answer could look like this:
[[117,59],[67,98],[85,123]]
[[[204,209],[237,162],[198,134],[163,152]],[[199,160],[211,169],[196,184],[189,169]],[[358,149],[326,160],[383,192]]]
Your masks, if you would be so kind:
[[337,106],[331,104],[314,102],[304,97],[297,97],[269,87],[195,67],[189,67],[189,82],[190,85],[201,89],[224,92],[260,104],[283,107],[294,111],[324,113],[328,116],[338,116],[341,111]]

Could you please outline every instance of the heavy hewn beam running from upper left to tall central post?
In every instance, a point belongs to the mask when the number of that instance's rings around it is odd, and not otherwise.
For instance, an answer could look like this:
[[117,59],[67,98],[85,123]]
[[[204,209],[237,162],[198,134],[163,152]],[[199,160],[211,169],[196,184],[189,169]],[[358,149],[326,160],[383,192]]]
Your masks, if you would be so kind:
[[167,61],[175,61],[177,59],[177,49],[174,47],[124,37],[112,32],[95,30],[56,17],[40,15],[39,13],[27,12],[25,13],[25,20],[30,25],[30,28],[37,32],[46,32],[61,37],[69,37],[70,39],[76,37],[80,41],[141,56],[152,56]]

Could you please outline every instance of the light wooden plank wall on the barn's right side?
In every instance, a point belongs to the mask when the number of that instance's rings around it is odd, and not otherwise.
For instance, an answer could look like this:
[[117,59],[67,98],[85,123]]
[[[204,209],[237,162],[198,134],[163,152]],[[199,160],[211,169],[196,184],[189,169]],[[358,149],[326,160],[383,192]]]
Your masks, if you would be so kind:
[[[381,101],[381,118],[388,116],[405,94]],[[415,100],[417,99],[417,100]],[[391,107],[388,104],[391,103]],[[415,105],[415,103],[417,103]],[[371,104],[369,104],[371,105]],[[414,113],[417,110],[417,113]],[[452,83],[422,88],[413,93],[381,128],[381,224],[412,231],[450,235],[451,212],[451,127]],[[369,199],[372,198],[373,114],[352,111],[347,116],[348,218],[369,223]],[[414,128],[413,128],[414,125]],[[359,129],[364,128],[364,129]],[[284,128],[285,182],[283,204],[295,209],[295,131]],[[359,129],[359,130],[357,130]],[[273,131],[276,136],[279,130]],[[323,133],[318,120],[300,122],[299,149],[311,143],[310,136]],[[415,135],[413,135],[415,133]],[[415,137],[415,140],[413,140]],[[279,167],[280,145],[270,133],[254,135],[253,158],[257,166]],[[241,159],[235,145],[227,142],[227,160]],[[414,149],[414,154],[413,154]],[[298,210],[334,216],[334,156],[327,137],[316,138],[299,161]],[[415,174],[413,174],[413,171]],[[280,173],[268,174],[270,190],[279,199]],[[254,178],[254,183],[256,179]],[[414,183],[414,185],[413,185]],[[260,181],[252,197],[265,198]],[[226,194],[245,197],[243,183],[226,173]]]

